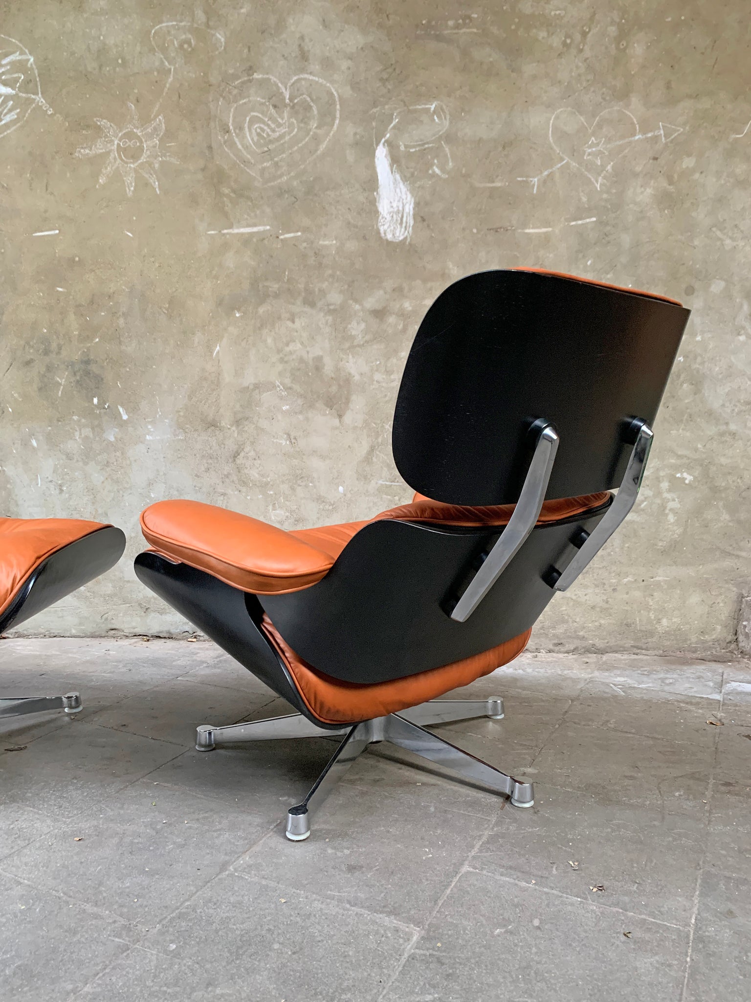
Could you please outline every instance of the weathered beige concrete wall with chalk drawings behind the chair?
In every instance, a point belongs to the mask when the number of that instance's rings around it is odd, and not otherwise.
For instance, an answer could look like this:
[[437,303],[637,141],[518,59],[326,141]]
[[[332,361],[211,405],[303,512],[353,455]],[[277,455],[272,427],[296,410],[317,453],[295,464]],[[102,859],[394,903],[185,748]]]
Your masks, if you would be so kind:
[[407,500],[390,422],[420,320],[461,276],[533,265],[694,311],[638,508],[536,646],[731,646],[747,24],[741,0],[5,0],[2,510],[129,539],[28,631],[185,628],[132,572],[153,500],[283,528]]

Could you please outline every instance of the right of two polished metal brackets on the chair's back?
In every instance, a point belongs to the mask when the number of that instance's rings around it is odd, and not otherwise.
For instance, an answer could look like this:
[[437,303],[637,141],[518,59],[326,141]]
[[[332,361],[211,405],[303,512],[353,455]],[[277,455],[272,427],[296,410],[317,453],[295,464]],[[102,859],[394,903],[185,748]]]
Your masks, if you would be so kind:
[[615,501],[592,533],[588,534],[580,528],[572,537],[571,542],[578,547],[579,552],[566,570],[559,571],[553,567],[546,575],[546,582],[556,591],[566,591],[571,587],[634,507],[639,488],[642,486],[654,434],[649,425],[641,420],[632,422],[630,430],[631,435],[636,434],[636,442]]

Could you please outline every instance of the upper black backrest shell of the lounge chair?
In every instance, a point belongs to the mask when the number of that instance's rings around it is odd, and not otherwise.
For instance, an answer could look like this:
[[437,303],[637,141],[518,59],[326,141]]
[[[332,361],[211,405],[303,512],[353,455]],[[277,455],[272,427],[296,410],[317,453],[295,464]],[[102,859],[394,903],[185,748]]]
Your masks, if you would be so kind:
[[547,497],[617,487],[634,418],[652,424],[689,311],[584,280],[481,272],[436,300],[420,326],[394,416],[397,467],[421,494],[513,504],[528,431],[561,444]]

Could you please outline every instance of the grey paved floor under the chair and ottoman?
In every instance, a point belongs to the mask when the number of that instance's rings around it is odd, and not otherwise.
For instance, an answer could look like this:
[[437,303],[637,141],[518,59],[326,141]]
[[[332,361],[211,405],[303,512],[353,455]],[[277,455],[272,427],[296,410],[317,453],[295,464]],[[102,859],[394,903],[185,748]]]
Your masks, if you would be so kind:
[[3,724],[4,1002],[751,998],[748,663],[525,655],[438,729],[533,810],[382,744],[298,844],[331,742],[196,753],[285,711],[212,644],[0,643],[3,694],[76,688]]

